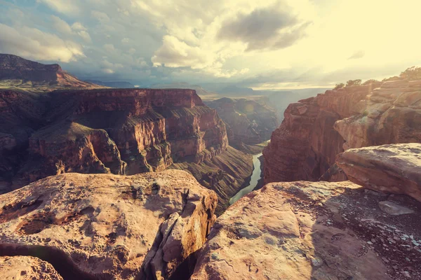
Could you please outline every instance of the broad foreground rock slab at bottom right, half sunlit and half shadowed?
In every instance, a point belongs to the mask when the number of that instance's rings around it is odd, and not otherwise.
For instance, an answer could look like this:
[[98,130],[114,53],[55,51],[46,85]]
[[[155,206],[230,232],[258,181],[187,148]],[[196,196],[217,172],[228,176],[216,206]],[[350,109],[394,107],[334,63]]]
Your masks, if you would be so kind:
[[[421,279],[420,203],[349,181],[270,183],[218,218],[192,279]],[[404,201],[403,201],[404,200]]]

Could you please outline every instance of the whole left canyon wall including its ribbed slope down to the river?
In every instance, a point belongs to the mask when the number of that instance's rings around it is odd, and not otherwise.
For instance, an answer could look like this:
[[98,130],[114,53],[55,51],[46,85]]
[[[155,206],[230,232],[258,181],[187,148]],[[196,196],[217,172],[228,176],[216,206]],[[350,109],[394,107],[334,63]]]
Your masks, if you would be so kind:
[[229,148],[225,124],[194,90],[4,90],[0,107],[3,192],[68,172],[201,166],[192,174],[217,191],[222,213],[253,169],[251,155]]

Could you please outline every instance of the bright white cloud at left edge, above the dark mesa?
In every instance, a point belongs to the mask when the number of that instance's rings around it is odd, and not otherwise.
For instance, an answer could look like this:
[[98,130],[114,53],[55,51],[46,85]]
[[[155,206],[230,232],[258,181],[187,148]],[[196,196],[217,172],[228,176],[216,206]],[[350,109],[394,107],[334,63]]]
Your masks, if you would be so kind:
[[84,57],[81,45],[55,34],[30,27],[9,27],[0,23],[0,52],[27,59],[71,62]]

